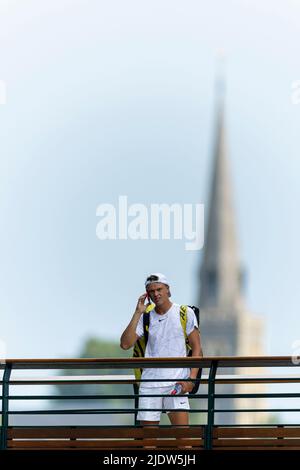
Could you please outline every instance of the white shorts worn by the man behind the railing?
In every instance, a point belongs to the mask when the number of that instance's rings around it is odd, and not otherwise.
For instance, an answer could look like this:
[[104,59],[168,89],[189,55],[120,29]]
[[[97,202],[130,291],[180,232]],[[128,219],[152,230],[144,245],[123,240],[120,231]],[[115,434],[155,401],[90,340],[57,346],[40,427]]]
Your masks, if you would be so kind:
[[[161,409],[167,409],[166,413],[172,410],[189,410],[190,404],[187,394],[183,396],[170,395],[174,385],[168,387],[143,387],[139,391],[139,409],[149,411],[139,411],[137,419],[139,421],[160,421]],[[148,397],[147,395],[165,395],[161,397]],[[155,409],[158,408],[157,411]]]

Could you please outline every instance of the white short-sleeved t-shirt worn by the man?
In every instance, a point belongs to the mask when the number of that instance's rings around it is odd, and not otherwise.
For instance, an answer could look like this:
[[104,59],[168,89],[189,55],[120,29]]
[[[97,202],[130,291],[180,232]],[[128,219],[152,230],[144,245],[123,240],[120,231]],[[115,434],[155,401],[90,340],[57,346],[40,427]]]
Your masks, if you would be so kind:
[[[180,322],[180,305],[172,304],[171,308],[160,315],[155,309],[150,312],[149,336],[145,357],[186,357],[184,331]],[[187,309],[186,333],[190,335],[198,328],[196,316],[191,308]],[[136,334],[144,336],[143,315],[138,322]],[[144,368],[142,379],[172,379],[174,382],[142,382],[143,387],[167,387],[179,379],[189,377],[188,368]]]

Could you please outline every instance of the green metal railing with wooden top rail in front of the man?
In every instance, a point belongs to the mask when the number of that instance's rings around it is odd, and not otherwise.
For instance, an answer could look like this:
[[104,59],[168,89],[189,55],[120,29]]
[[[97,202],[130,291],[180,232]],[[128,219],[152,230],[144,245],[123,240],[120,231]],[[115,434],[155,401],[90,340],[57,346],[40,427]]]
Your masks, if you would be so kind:
[[[137,408],[138,408],[138,394],[134,393],[132,389],[132,393],[129,394],[121,394],[118,393],[118,385],[120,384],[136,384],[137,381],[135,380],[134,375],[132,374],[134,368],[148,368],[148,367],[155,367],[155,368],[176,368],[176,367],[195,367],[195,368],[202,368],[207,369],[208,374],[202,375],[201,378],[201,385],[199,388],[199,393],[190,396],[194,403],[198,403],[198,407],[193,406],[191,407],[190,413],[203,413],[207,416],[207,422],[205,424],[199,424],[198,426],[195,425],[195,437],[198,440],[194,441],[193,444],[196,447],[201,447],[204,449],[212,449],[215,447],[222,448],[223,446],[231,445],[232,446],[241,446],[245,445],[245,437],[248,439],[250,437],[253,439],[253,445],[259,446],[261,445],[271,445],[272,444],[280,444],[294,446],[295,448],[300,449],[300,425],[295,424],[294,427],[292,425],[285,426],[282,423],[273,423],[272,426],[269,427],[268,433],[261,433],[261,432],[252,432],[247,431],[247,429],[251,428],[251,426],[239,426],[238,429],[234,431],[234,426],[230,426],[230,429],[226,430],[226,426],[217,426],[215,422],[215,417],[218,413],[257,413],[257,412],[285,412],[288,411],[290,413],[297,413],[300,411],[299,406],[289,406],[285,408],[262,408],[262,407],[255,407],[249,409],[228,409],[226,407],[222,407],[221,409],[216,408],[216,400],[224,399],[255,399],[258,401],[266,399],[266,398],[284,398],[285,403],[288,403],[289,399],[298,399],[300,398],[299,392],[292,392],[290,386],[288,384],[292,383],[300,383],[300,373],[299,369],[297,369],[298,364],[295,363],[291,357],[189,357],[189,358],[98,358],[98,359],[6,359],[0,363],[0,371],[2,370],[2,377],[0,380],[0,386],[2,388],[2,394],[0,396],[1,399],[1,441],[0,446],[1,449],[7,448],[22,448],[25,447],[34,447],[35,442],[38,441],[38,438],[41,438],[39,443],[40,445],[46,445],[45,442],[47,441],[48,448],[52,448],[54,446],[64,447],[67,445],[72,446],[79,446],[84,444],[84,438],[82,436],[87,436],[87,427],[85,426],[85,432],[80,434],[78,431],[78,426],[76,426],[76,433],[74,434],[74,426],[70,426],[68,428],[64,427],[64,433],[61,432],[60,438],[58,439],[55,436],[58,436],[57,430],[54,428],[60,428],[62,431],[62,426],[52,424],[51,432],[49,431],[49,426],[33,426],[32,423],[27,423],[26,426],[16,426],[11,424],[11,418],[16,415],[109,415],[113,416],[115,414],[131,414],[133,417],[132,421],[132,436],[135,439],[139,439],[140,437],[148,437],[153,438],[153,430],[150,432],[149,435],[146,435],[144,431],[135,431],[135,429],[139,429],[139,424],[137,423],[134,418],[136,418]],[[251,370],[251,368],[255,368],[255,370],[260,370],[260,374],[254,375],[245,375],[245,373],[241,374],[239,371],[243,370]],[[284,372],[281,370],[280,374],[271,374],[266,375],[265,370],[266,368],[284,368]],[[296,368],[296,373],[290,374],[291,369]],[[107,374],[107,370],[114,370],[114,369],[124,369],[127,370],[127,374]],[[64,371],[64,374],[67,371],[73,372],[78,370],[84,370],[84,372],[92,370],[93,373],[96,370],[96,375],[50,375],[52,371],[61,370]],[[226,370],[232,371],[234,370],[234,374],[226,374]],[[25,375],[20,376],[19,372],[24,372]],[[43,377],[33,376],[33,371],[43,371],[43,373],[47,373]],[[129,371],[129,372],[128,372]],[[221,371],[221,373],[220,373]],[[28,373],[31,373],[31,376]],[[28,375],[26,375],[28,374]],[[165,381],[165,379],[164,379]],[[170,381],[173,381],[172,377],[170,377]],[[287,391],[285,393],[217,393],[216,387],[220,384],[287,384]],[[114,384],[116,385],[115,390],[116,393],[114,394],[74,394],[74,395],[49,395],[49,394],[19,394],[15,395],[11,393],[12,387],[20,387],[20,386],[28,386],[30,387],[30,391],[34,391],[37,387],[44,386],[44,385],[59,385],[63,387],[64,385],[96,385],[96,384]],[[206,385],[207,393],[203,393],[203,386]],[[23,388],[23,387],[22,387]],[[96,408],[80,408],[80,409],[43,409],[43,410],[28,410],[28,409],[21,409],[15,410],[12,407],[12,403],[24,403],[24,400],[47,400],[49,402],[53,402],[55,400],[96,400],[98,407]],[[130,408],[120,408],[117,405],[112,405],[111,408],[107,408],[104,406],[100,406],[105,402],[105,400],[131,400],[132,406]],[[292,400],[291,400],[292,401]],[[203,406],[203,403],[206,403],[206,407]],[[200,406],[201,404],[201,406]],[[297,403],[298,404],[298,403]],[[199,407],[200,406],[200,407]],[[172,410],[174,411],[174,410]],[[256,425],[255,429],[259,429],[260,425]],[[93,426],[93,437],[98,437],[98,439],[93,439],[90,441],[90,446],[97,446],[100,445],[100,437],[105,437],[104,431],[107,430],[107,426],[97,425],[97,432],[95,431],[95,426]],[[118,440],[118,435],[121,438],[124,435],[124,430],[122,431],[122,426],[110,426],[110,428],[114,428],[113,430],[110,429],[107,436],[114,436]],[[193,426],[190,426],[191,428]],[[261,423],[261,427],[266,429],[265,423]],[[286,430],[282,430],[282,428],[286,428]],[[26,428],[26,429],[25,429]],[[35,429],[36,428],[36,429]],[[37,431],[38,428],[38,431]],[[90,427],[91,428],[91,427]],[[102,430],[100,428],[103,428]],[[178,431],[177,434],[175,433],[174,426],[165,426],[168,428],[169,431],[164,432],[161,434],[164,438],[170,438],[172,436],[182,436]],[[222,429],[221,429],[222,428]],[[292,429],[293,428],[293,429]],[[74,432],[72,432],[72,429]],[[124,428],[125,429],[125,428]],[[240,432],[243,429],[243,432]],[[290,431],[292,429],[292,431]],[[239,431],[240,430],[240,431]],[[35,432],[34,432],[35,431]],[[46,432],[47,431],[47,432]],[[230,431],[230,432],[229,432]],[[127,431],[126,431],[127,432]],[[240,435],[239,435],[240,432]],[[31,433],[31,434],[30,434]],[[50,434],[49,434],[50,433]],[[144,434],[143,434],[144,433]],[[175,434],[174,434],[175,433]],[[191,431],[192,433],[192,431]],[[193,437],[192,434],[189,434]],[[89,434],[90,436],[91,434]],[[158,433],[159,435],[159,433]],[[35,436],[30,438],[28,436]],[[41,437],[42,436],[42,437]],[[47,437],[52,438],[47,440]],[[73,436],[73,437],[72,437]],[[74,437],[75,436],[75,437]],[[100,436],[100,437],[99,437]],[[131,436],[131,437],[132,437]],[[227,437],[226,437],[227,436]],[[236,439],[233,442],[230,441],[229,437],[234,436]],[[257,438],[260,436],[260,442],[257,442]],[[55,437],[55,439],[54,439]],[[123,436],[124,437],[124,436]],[[127,436],[126,441],[122,441],[124,446],[126,445],[133,445],[131,441],[129,441],[129,437]],[[242,440],[238,439],[241,438]],[[275,438],[275,441],[274,439]],[[219,439],[219,440],[218,440]],[[113,445],[119,445],[119,442],[114,441]],[[26,441],[26,442],[25,442]],[[25,443],[24,443],[25,442]],[[117,442],[117,444],[116,444]],[[131,443],[130,443],[131,442]],[[147,441],[148,442],[148,441]],[[149,441],[153,444],[153,441]],[[155,441],[156,443],[158,441]],[[182,441],[180,441],[182,442]],[[70,444],[71,443],[71,444]],[[135,441],[135,443],[137,443]],[[162,440],[162,445],[170,446],[169,440]],[[178,444],[178,442],[176,441]],[[221,443],[221,444],[220,444]],[[26,444],[26,445],[25,445]],[[104,443],[105,444],[105,443]],[[103,442],[101,446],[103,447]],[[108,441],[106,440],[106,444],[108,445]],[[109,442],[112,445],[112,441]],[[197,445],[196,445],[197,444]],[[85,444],[87,445],[87,443]],[[250,445],[250,444],[249,444]],[[72,447],[71,446],[71,447]]]

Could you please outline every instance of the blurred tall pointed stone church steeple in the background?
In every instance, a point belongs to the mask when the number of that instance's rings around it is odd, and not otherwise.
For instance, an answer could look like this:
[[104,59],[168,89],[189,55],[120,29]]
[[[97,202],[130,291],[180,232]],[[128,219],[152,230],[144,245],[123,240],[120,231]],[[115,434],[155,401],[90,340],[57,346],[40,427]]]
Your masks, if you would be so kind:
[[202,308],[232,311],[240,304],[240,266],[224,118],[224,83],[218,83],[216,139],[206,237],[200,271]]

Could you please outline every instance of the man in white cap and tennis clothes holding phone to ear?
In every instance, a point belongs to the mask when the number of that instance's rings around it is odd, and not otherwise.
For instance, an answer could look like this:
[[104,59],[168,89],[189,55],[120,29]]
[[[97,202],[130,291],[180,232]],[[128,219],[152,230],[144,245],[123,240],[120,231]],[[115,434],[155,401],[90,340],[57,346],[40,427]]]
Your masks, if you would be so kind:
[[[144,334],[143,313],[150,302],[145,305],[146,298],[150,298],[155,309],[151,310],[149,335],[145,357],[183,357],[186,356],[185,335],[180,321],[180,305],[172,303],[169,282],[161,273],[151,274],[145,282],[146,293],[142,294],[137,302],[133,317],[121,336],[121,348],[129,349]],[[192,309],[187,309],[186,333],[192,348],[192,356],[203,356],[200,333],[197,320]],[[173,425],[189,424],[189,401],[187,395],[170,395],[175,384],[182,387],[181,393],[192,391],[198,369],[188,368],[144,368],[142,379],[153,379],[142,382],[139,390],[139,411],[137,419],[141,425],[158,425],[161,411],[159,409],[182,410],[167,412]],[[191,380],[188,382],[180,379]],[[155,379],[166,379],[155,382]],[[173,379],[172,382],[167,379]],[[163,397],[149,397],[148,395],[161,394]],[[148,411],[149,409],[149,411]],[[150,411],[154,409],[153,411]],[[158,409],[156,411],[156,409]]]

